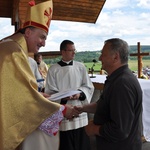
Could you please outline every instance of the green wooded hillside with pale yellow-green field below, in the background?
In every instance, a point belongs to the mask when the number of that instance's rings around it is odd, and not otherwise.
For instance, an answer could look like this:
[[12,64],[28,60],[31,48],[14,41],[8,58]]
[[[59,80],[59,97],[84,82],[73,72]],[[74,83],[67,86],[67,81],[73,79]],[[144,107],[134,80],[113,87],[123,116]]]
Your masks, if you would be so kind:
[[[150,52],[150,46],[141,46],[141,52]],[[131,53],[137,53],[137,46],[136,45],[131,45],[130,46],[130,54]],[[93,60],[99,60],[101,52],[100,50],[98,51],[84,51],[84,52],[77,52],[75,55],[75,60],[83,62],[87,68],[92,67],[93,65]],[[60,60],[60,57],[53,58],[53,59],[44,59],[44,61],[50,66],[53,63],[56,63]],[[137,57],[131,57],[129,56],[129,67],[131,70],[136,71],[138,66],[138,61]],[[143,67],[150,66],[150,56],[144,56],[143,57]],[[94,70],[100,70],[101,68],[101,62],[95,63]]]

